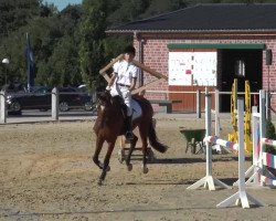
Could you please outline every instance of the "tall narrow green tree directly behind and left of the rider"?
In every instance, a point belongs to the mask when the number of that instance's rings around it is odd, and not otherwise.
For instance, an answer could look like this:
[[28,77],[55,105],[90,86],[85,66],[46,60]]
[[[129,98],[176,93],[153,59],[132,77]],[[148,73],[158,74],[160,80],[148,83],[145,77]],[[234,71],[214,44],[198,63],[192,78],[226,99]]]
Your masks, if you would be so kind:
[[89,87],[98,87],[103,78],[98,71],[105,63],[105,0],[84,0],[79,25],[79,64],[82,78]]

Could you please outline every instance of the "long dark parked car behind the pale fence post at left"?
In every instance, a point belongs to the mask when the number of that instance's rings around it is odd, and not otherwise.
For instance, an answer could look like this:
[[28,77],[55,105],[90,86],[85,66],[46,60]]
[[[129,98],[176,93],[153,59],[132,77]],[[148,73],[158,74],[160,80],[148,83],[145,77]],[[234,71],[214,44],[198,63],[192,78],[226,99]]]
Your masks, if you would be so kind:
[[[60,87],[60,110],[67,112],[73,108],[93,110],[92,97],[79,93],[73,87]],[[7,97],[9,112],[21,112],[22,109],[47,110],[52,108],[52,88],[40,87],[29,93],[10,94]]]

